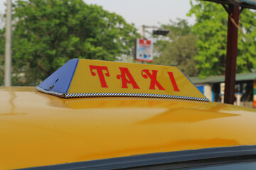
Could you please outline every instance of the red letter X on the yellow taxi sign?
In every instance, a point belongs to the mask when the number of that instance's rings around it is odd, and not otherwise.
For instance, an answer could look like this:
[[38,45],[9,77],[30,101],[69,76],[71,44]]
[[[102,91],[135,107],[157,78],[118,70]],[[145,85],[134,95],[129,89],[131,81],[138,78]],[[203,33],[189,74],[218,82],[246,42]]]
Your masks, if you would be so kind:
[[[165,90],[164,87],[161,86],[161,84],[159,84],[159,81],[156,80],[157,72],[158,72],[157,70],[152,70],[152,74],[150,74],[149,69],[144,69],[142,70],[142,77],[144,77],[145,79],[149,77],[150,79],[149,89],[155,90],[157,86],[159,90]],[[146,73],[146,74],[143,74],[143,73]]]

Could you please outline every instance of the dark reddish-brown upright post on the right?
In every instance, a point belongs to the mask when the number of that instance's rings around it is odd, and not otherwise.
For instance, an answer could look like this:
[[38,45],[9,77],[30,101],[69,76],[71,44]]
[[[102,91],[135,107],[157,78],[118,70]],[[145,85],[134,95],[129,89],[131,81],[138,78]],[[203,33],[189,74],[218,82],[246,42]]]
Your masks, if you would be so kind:
[[[229,5],[229,11],[235,23],[239,22],[239,6]],[[228,43],[225,67],[224,103],[233,104],[235,100],[235,70],[238,51],[238,28],[228,18]]]

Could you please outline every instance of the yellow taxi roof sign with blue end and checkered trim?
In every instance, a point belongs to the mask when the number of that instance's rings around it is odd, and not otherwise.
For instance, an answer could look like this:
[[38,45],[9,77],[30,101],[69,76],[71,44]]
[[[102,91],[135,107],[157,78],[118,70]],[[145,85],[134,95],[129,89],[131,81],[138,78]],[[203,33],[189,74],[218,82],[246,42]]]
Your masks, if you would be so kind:
[[134,96],[209,101],[176,67],[73,59],[36,86],[63,98]]

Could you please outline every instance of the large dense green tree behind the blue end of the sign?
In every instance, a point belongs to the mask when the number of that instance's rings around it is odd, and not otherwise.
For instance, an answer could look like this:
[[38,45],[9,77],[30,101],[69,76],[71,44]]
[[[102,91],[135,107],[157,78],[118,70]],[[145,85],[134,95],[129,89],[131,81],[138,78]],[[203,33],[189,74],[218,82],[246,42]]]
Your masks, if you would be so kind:
[[138,36],[121,16],[82,0],[17,0],[13,11],[14,85],[36,85],[73,58],[132,55]]

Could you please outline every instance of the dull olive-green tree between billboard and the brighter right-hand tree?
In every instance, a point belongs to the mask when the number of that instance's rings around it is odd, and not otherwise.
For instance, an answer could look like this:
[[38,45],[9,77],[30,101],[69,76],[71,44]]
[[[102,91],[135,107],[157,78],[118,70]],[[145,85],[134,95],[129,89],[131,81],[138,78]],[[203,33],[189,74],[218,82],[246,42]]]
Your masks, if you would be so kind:
[[159,57],[155,57],[154,64],[176,66],[186,75],[198,76],[194,56],[197,54],[196,36],[192,34],[191,26],[186,20],[171,21],[162,28],[170,30],[168,39],[159,40],[154,45]]

